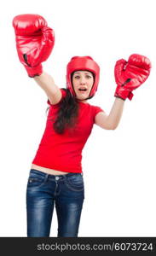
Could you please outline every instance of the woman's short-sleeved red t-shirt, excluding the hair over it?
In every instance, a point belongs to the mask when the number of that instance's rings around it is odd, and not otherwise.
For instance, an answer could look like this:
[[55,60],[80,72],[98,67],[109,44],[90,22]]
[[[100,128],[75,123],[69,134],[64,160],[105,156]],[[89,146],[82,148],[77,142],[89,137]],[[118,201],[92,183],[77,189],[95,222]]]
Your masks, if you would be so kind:
[[[61,89],[61,93],[62,100],[66,96],[66,91]],[[78,102],[77,124],[66,128],[63,134],[58,134],[53,128],[54,121],[52,122],[50,118],[55,118],[61,102],[55,105],[50,104],[49,100],[47,102],[50,108],[46,127],[32,164],[61,172],[82,172],[84,144],[92,131],[95,115],[103,110],[89,103]]]

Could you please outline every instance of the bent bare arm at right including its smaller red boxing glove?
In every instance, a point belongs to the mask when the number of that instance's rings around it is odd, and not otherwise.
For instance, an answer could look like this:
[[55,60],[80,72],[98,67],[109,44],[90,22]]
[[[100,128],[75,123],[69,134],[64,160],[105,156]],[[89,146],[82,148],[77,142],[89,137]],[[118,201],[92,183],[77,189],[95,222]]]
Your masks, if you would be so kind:
[[114,130],[121,119],[124,101],[133,97],[133,90],[143,84],[150,73],[151,62],[143,55],[130,55],[129,60],[121,59],[116,62],[114,73],[117,88],[115,95],[117,98],[113,103],[110,113],[100,112],[95,116],[95,124],[103,129]]

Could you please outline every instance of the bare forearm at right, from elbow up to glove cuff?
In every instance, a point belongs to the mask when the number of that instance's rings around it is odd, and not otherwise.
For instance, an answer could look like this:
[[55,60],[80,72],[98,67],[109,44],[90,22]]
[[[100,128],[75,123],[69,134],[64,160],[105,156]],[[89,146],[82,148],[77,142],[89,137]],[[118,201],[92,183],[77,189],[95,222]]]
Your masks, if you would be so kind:
[[120,98],[115,98],[113,107],[110,113],[107,115],[107,124],[114,130],[117,128],[119,121],[122,117],[124,109],[124,101]]

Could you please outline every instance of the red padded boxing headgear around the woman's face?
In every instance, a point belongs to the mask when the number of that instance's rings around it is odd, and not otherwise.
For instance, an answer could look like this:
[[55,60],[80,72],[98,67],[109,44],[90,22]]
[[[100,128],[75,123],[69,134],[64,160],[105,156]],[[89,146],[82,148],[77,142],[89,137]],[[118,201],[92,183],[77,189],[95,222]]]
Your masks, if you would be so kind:
[[90,57],[90,56],[74,56],[72,57],[71,61],[67,64],[66,67],[66,88],[71,91],[72,96],[76,96],[75,91],[72,87],[72,73],[78,70],[88,70],[95,75],[95,81],[92,86],[92,89],[90,90],[90,96],[91,98],[95,95],[95,91],[97,90],[97,86],[99,83],[99,76],[100,76],[100,67],[98,64]]

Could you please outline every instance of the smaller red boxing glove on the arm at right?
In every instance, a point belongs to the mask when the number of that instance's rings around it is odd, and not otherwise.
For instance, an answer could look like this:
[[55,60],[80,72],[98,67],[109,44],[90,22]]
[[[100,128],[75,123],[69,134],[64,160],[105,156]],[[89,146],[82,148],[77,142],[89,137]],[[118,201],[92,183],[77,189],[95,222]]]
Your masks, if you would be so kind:
[[116,62],[114,74],[118,84],[114,96],[131,100],[132,90],[143,84],[149,76],[151,62],[143,55],[130,55],[129,60],[121,59]]

